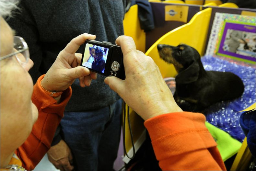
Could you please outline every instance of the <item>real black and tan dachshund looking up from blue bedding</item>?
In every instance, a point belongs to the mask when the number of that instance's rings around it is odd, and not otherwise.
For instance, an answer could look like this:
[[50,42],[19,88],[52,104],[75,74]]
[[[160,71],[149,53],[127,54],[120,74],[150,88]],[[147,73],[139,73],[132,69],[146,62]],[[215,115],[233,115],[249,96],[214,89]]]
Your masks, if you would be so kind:
[[160,58],[178,72],[174,99],[184,111],[202,112],[208,106],[240,97],[242,80],[230,72],[205,71],[200,54],[191,46],[157,46]]

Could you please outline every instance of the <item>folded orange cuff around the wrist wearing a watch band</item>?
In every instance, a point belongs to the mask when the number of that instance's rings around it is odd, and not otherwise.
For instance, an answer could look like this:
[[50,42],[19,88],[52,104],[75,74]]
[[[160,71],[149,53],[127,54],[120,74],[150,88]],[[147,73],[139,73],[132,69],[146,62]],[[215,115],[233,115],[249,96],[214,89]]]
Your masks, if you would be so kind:
[[[52,112],[56,113],[56,111],[58,110],[63,110],[64,112],[64,107],[68,103],[72,94],[71,87],[69,86],[65,91],[63,91],[63,94],[61,97],[62,101],[59,104],[57,104],[57,101],[53,97],[49,96],[49,94],[47,94],[40,85],[40,82],[43,79],[44,75],[41,75],[38,78],[36,84],[34,85],[32,102],[37,106],[39,111],[44,111],[47,113],[52,113]],[[62,112],[62,115],[63,115],[63,112]]]

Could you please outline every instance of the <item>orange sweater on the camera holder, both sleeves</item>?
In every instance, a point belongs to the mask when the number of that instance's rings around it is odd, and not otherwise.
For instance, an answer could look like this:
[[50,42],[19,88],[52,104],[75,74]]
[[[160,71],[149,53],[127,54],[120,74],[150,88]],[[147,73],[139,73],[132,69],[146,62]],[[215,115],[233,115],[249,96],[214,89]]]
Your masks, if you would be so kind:
[[[71,87],[62,94],[62,102],[44,93],[40,81],[34,85],[32,101],[39,110],[38,120],[28,139],[16,154],[27,170],[32,170],[51,147],[55,130],[71,97]],[[145,121],[162,170],[226,170],[216,143],[205,127],[200,113],[176,112]]]

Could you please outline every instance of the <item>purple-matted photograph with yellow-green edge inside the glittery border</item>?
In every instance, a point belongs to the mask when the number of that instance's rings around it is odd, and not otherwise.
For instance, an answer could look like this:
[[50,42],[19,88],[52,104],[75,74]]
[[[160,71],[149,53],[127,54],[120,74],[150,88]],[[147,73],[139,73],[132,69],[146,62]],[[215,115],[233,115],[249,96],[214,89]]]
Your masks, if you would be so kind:
[[255,24],[225,20],[217,55],[255,63]]

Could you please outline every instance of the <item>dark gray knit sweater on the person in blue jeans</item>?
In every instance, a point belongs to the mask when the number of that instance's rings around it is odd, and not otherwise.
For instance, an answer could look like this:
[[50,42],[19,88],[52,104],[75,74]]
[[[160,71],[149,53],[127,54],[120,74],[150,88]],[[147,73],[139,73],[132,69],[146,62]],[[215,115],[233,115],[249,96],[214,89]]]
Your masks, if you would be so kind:
[[[45,74],[58,53],[82,33],[96,35],[98,41],[115,43],[123,35],[124,1],[21,1],[14,18],[7,22],[16,35],[25,39],[34,62],[29,71],[34,83]],[[80,47],[77,51],[82,53]],[[97,75],[89,87],[77,79],[66,111],[86,111],[113,104],[120,97]]]

